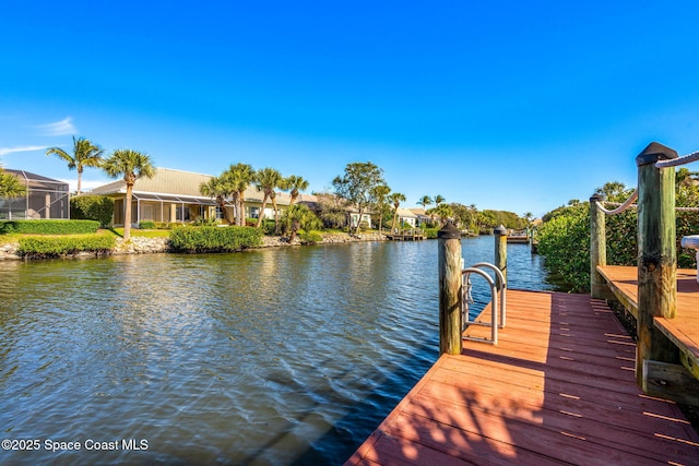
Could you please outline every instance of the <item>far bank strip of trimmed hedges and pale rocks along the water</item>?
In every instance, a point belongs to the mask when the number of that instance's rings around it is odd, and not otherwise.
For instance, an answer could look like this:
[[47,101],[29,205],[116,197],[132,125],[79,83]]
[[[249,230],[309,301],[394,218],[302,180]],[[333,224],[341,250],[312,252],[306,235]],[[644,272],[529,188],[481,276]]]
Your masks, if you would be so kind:
[[[268,247],[386,240],[386,236],[378,231],[360,235],[310,231],[289,241],[285,237],[263,236],[261,229],[253,227],[177,226],[168,230],[167,236],[152,236],[150,231],[142,231],[144,236],[140,236],[135,230],[135,235],[125,242],[115,230],[98,230],[98,222],[91,220],[2,220],[0,259],[235,252]],[[13,240],[2,243],[3,234],[11,234]]]

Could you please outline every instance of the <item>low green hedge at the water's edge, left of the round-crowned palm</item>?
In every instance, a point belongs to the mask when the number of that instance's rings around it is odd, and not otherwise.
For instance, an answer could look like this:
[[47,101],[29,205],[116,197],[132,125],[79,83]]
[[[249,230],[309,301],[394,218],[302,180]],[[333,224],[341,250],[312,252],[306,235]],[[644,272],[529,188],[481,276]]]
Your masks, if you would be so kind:
[[17,252],[29,258],[56,258],[82,251],[108,253],[115,243],[116,238],[110,235],[27,237],[20,238]]

